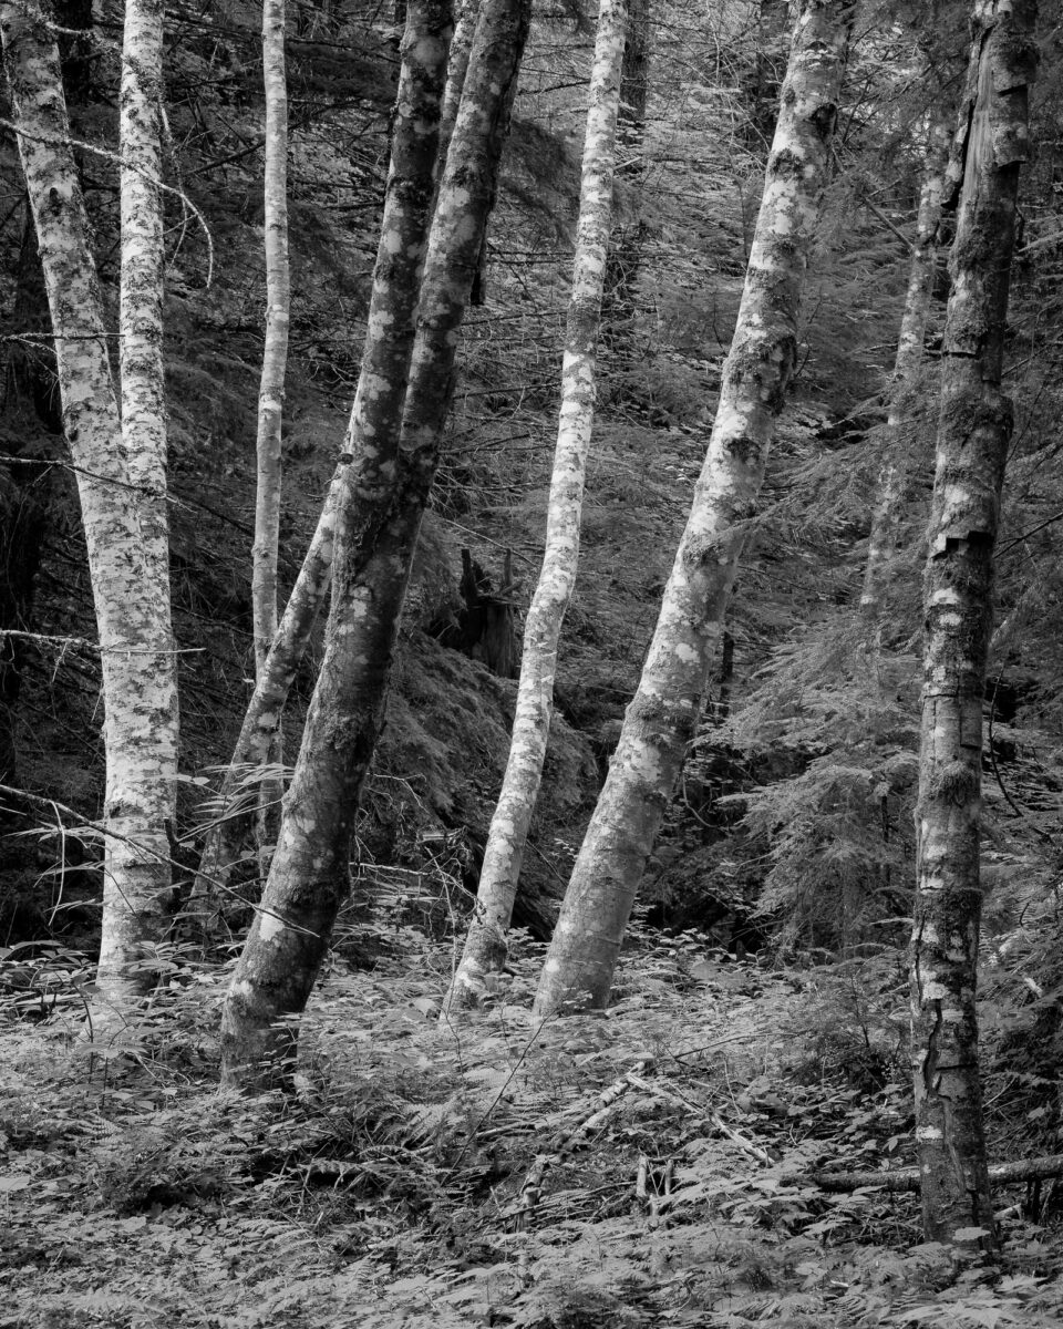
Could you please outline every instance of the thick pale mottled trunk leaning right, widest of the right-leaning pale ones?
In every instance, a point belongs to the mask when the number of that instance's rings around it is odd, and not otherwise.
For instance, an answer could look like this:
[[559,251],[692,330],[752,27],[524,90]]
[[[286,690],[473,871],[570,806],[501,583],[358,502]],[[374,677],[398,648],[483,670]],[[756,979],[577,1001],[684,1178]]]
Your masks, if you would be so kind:
[[694,736],[775,419],[826,182],[853,5],[801,0],[735,338],[638,692],[577,857],[535,1013],[609,998],[646,859]]

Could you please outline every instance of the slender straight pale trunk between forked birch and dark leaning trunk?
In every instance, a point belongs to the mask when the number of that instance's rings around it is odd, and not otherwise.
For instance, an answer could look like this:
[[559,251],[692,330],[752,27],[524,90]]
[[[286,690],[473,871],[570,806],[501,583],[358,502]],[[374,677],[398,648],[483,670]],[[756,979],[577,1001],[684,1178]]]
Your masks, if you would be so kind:
[[[262,678],[276,635],[276,565],[280,542],[280,427],[284,373],[288,363],[291,275],[288,270],[288,90],[284,70],[284,0],[262,7],[262,80],[266,93],[264,250],[266,339],[258,389],[258,482],[255,486],[255,542],[251,554],[251,615],[255,641],[255,682]],[[267,759],[280,766],[280,718]],[[268,807],[280,799],[279,779],[263,781]],[[266,808],[263,808],[264,833]],[[260,839],[263,835],[260,835]]]

